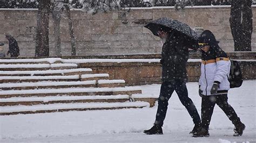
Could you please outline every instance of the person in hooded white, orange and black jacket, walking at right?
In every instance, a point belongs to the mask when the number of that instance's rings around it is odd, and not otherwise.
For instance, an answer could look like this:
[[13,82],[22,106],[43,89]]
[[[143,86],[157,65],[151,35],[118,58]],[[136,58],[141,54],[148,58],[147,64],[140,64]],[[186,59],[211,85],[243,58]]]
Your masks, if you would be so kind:
[[213,33],[205,30],[199,37],[201,55],[201,76],[199,79],[199,95],[201,101],[201,130],[193,133],[193,137],[208,137],[213,108],[217,104],[234,124],[234,136],[242,135],[245,125],[240,121],[233,107],[227,102],[230,89],[228,75],[230,60],[221,50]]

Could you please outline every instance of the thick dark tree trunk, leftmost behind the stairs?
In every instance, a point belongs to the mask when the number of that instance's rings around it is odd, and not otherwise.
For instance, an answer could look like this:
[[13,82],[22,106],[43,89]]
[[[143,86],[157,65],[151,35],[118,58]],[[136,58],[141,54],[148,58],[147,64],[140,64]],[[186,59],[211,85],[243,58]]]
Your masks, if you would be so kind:
[[51,0],[39,1],[37,13],[36,57],[49,57],[49,14]]

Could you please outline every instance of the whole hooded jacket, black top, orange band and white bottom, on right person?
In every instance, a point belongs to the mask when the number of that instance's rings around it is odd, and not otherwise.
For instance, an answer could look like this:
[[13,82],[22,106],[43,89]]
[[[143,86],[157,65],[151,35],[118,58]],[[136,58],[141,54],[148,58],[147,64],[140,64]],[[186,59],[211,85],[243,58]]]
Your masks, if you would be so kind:
[[210,30],[201,33],[198,43],[210,45],[207,52],[202,51],[200,90],[205,96],[211,96],[211,88],[215,81],[219,83],[217,94],[226,94],[230,89],[228,75],[231,65],[227,54],[219,47],[219,42]]

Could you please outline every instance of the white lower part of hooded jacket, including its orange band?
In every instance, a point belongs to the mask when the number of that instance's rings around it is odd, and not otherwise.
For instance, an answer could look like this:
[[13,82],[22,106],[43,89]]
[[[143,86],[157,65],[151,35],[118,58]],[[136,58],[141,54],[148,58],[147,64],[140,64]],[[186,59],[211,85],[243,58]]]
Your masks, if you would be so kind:
[[214,81],[219,81],[217,94],[225,94],[230,89],[228,75],[230,74],[231,62],[228,58],[216,58],[212,60],[202,60],[201,76],[199,79],[200,90],[205,96],[211,96],[211,88]]

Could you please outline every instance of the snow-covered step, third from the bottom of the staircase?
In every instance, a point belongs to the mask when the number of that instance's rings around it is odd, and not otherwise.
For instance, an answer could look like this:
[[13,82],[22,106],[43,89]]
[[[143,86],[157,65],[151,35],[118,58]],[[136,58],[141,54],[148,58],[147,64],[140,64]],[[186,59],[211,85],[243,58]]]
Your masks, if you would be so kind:
[[7,90],[0,91],[0,98],[31,97],[31,96],[109,96],[118,94],[142,93],[139,87],[88,87],[88,88],[60,88],[60,89],[38,89],[38,90]]

